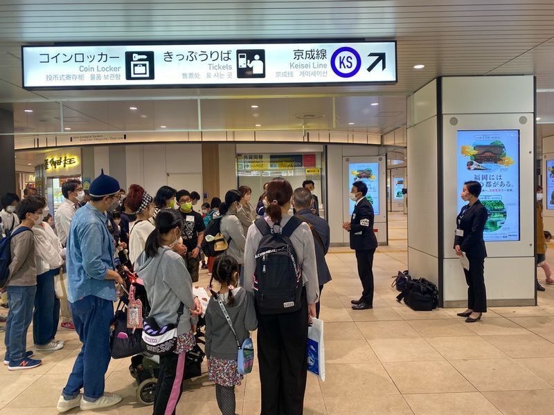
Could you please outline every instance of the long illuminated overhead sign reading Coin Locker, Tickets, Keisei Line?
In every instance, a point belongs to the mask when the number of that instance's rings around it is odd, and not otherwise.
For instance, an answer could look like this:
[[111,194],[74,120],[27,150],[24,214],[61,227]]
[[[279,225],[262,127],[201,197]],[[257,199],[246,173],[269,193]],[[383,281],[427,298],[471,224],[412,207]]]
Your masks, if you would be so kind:
[[21,46],[25,89],[394,83],[396,42]]

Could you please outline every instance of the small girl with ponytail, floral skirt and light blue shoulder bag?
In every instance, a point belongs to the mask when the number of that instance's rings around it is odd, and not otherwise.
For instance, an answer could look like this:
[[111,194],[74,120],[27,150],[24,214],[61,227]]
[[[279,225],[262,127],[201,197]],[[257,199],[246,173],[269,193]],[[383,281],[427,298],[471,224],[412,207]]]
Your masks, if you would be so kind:
[[252,293],[237,287],[239,266],[229,255],[215,258],[210,281],[212,297],[206,308],[206,356],[208,376],[215,382],[215,398],[222,415],[235,415],[235,385],[242,375],[237,366],[237,342],[220,307],[220,297],[242,344],[256,330],[258,320]]

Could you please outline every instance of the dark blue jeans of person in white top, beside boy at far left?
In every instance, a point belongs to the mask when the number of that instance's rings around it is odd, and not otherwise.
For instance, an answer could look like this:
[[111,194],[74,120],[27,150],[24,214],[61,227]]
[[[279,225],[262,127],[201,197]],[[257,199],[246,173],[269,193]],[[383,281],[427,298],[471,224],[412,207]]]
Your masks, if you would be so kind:
[[60,321],[60,300],[54,291],[54,276],[60,268],[37,275],[37,296],[33,313],[33,340],[42,346],[54,340]]

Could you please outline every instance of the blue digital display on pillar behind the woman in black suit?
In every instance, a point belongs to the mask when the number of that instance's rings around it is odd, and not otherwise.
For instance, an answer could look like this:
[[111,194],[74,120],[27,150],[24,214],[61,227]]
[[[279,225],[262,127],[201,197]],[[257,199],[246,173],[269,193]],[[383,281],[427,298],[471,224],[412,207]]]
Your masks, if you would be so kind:
[[[458,131],[458,191],[483,187],[485,241],[519,241],[519,130]],[[458,212],[467,202],[458,196]]]

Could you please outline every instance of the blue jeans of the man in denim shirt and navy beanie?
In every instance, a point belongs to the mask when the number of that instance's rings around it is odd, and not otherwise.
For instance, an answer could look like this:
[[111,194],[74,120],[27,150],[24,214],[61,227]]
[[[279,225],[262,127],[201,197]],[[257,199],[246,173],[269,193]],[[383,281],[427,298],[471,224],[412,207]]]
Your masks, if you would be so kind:
[[92,402],[104,394],[104,376],[111,358],[109,326],[114,320],[114,303],[87,295],[70,303],[70,306],[82,348],[62,395],[66,400],[71,400],[84,388],[84,400]]

